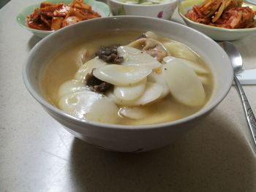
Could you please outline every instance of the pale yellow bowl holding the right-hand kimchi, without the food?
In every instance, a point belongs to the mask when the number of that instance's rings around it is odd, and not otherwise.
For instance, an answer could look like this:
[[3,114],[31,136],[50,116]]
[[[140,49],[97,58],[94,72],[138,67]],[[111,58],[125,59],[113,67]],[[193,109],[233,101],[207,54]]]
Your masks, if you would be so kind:
[[[189,9],[191,9],[195,4],[201,4],[203,0],[185,0],[181,1],[180,4],[178,4],[178,14],[181,15],[181,18],[184,20],[184,22],[187,24],[187,26],[191,28],[195,28],[197,31],[202,32],[203,34],[206,34],[208,37],[211,37],[214,40],[217,41],[233,41],[238,40],[243,37],[247,37],[250,34],[256,33],[256,27],[254,28],[235,28],[235,29],[229,29],[229,28],[220,28],[216,26],[208,26],[202,23],[196,23],[192,20],[189,20],[186,18],[186,13]],[[252,4],[243,4],[243,6],[249,6],[254,11],[256,11],[256,6]]]

